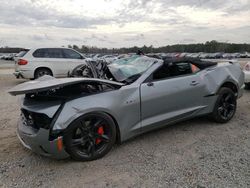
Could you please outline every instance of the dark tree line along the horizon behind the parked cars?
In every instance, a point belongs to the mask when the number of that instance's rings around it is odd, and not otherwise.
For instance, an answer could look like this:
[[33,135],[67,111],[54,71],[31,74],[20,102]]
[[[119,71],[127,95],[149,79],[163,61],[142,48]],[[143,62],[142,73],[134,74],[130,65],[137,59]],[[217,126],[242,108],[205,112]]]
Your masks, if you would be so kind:
[[[236,43],[224,43],[218,42],[216,40],[207,41],[205,43],[197,44],[175,44],[167,45],[162,47],[153,47],[151,46],[134,46],[129,48],[99,48],[95,46],[77,46],[77,45],[68,45],[69,48],[73,48],[81,53],[136,53],[138,50],[143,51],[144,53],[172,53],[172,52],[206,52],[206,53],[215,53],[215,52],[225,52],[225,53],[236,53],[236,52],[250,52],[250,44],[236,44]],[[0,53],[18,53],[23,48],[11,48],[11,47],[1,47]]]

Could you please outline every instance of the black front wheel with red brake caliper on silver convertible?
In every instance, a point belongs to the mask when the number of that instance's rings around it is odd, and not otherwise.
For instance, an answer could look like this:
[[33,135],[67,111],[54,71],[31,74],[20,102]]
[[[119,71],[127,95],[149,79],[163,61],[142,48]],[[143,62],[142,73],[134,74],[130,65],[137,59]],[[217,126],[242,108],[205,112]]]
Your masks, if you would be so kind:
[[[101,130],[101,133],[100,133]],[[105,113],[90,113],[75,120],[64,135],[64,145],[78,161],[92,161],[106,155],[116,140],[116,126]]]

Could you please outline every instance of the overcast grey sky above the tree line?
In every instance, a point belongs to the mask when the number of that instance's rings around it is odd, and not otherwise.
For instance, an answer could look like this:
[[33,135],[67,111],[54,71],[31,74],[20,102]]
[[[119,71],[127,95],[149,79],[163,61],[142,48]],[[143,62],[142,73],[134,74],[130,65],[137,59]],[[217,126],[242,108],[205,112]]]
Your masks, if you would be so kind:
[[0,0],[0,46],[250,43],[250,0]]

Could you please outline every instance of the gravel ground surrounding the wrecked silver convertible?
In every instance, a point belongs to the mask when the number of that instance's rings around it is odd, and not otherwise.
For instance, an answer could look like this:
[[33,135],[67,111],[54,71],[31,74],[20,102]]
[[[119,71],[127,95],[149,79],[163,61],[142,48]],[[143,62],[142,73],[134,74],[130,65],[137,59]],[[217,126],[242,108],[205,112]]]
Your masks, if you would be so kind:
[[0,187],[250,187],[250,90],[228,124],[199,118],[139,136],[93,162],[53,160],[16,137],[22,82],[0,75]]

